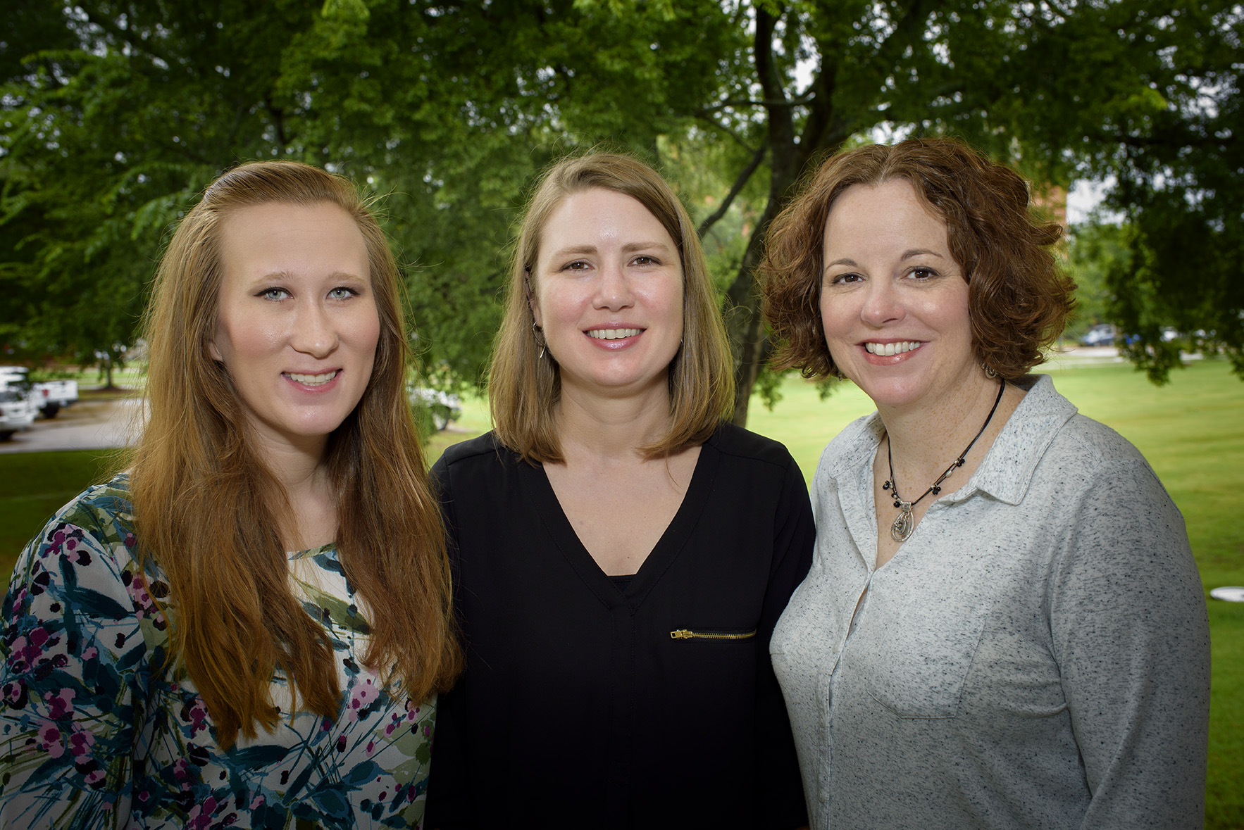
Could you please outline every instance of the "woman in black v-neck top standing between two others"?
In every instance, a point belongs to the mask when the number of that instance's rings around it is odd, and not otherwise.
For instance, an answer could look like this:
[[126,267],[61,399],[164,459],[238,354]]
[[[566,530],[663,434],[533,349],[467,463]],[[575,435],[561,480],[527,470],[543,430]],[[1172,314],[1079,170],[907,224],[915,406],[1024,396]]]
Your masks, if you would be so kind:
[[731,359],[687,212],[567,159],[516,246],[495,430],[435,465],[468,668],[429,828],[806,824],[769,637],[815,528],[780,444],[722,421]]

